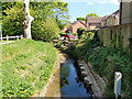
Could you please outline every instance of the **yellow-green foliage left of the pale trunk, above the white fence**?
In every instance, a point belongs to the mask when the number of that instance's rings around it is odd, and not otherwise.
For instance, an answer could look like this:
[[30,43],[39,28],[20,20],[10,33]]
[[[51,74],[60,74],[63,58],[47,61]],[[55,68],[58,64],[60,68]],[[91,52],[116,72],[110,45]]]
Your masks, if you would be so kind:
[[2,32],[6,35],[22,35],[23,34],[23,21],[24,21],[24,9],[20,6],[14,6],[11,9],[7,9],[3,12],[2,20]]

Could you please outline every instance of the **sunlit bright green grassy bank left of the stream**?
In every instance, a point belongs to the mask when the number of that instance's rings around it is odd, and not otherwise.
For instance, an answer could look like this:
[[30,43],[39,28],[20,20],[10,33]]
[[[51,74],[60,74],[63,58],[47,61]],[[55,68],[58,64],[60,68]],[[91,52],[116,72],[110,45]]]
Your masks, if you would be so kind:
[[53,72],[57,51],[48,43],[21,40],[2,45],[2,97],[38,92]]

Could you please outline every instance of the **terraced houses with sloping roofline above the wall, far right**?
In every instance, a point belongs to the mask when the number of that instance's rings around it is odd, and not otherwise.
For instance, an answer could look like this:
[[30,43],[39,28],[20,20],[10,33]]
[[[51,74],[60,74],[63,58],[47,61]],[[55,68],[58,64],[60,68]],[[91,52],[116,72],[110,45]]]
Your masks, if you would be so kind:
[[102,18],[102,20],[100,22],[100,28],[119,25],[119,21],[120,21],[120,11],[117,10],[112,14],[106,15]]

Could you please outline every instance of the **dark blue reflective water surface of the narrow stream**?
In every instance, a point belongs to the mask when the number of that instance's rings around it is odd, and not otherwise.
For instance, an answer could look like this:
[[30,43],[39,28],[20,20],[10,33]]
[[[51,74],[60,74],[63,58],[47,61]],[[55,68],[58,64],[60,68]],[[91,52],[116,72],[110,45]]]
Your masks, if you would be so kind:
[[84,87],[77,72],[75,61],[67,59],[61,66],[61,96],[62,97],[90,97],[91,94]]

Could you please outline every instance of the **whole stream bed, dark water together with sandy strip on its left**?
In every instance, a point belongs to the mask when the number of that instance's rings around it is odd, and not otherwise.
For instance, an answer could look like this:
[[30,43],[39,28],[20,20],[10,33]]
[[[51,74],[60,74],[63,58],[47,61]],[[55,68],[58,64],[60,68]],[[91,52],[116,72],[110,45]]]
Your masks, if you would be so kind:
[[91,88],[86,88],[76,61],[59,52],[58,62],[44,97],[91,97]]

